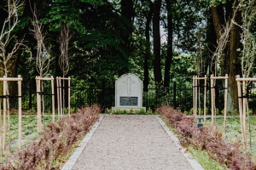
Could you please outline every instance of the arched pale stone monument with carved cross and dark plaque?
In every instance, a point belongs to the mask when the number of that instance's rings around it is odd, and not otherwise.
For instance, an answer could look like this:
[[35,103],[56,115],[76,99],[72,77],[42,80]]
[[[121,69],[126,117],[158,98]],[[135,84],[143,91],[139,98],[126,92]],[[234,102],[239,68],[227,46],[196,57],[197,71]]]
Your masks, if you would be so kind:
[[134,74],[127,73],[115,81],[115,106],[112,112],[119,111],[141,111],[146,112],[143,107],[143,82]]

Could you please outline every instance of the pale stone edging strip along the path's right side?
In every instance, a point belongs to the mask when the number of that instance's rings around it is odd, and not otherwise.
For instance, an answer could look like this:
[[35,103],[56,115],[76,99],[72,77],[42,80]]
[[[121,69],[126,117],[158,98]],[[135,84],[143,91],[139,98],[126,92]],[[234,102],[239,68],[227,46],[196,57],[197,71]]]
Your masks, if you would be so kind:
[[195,170],[204,170],[203,167],[201,167],[201,164],[196,161],[194,158],[192,158],[192,155],[180,144],[179,139],[177,139],[177,136],[172,133],[172,131],[169,129],[169,127],[166,126],[166,123],[163,122],[163,120],[160,118],[160,116],[155,116],[156,119],[160,122],[160,125],[166,130],[166,133],[171,137],[174,144],[177,145],[177,148],[182,152],[183,156],[189,161],[189,164],[191,167],[193,167]]

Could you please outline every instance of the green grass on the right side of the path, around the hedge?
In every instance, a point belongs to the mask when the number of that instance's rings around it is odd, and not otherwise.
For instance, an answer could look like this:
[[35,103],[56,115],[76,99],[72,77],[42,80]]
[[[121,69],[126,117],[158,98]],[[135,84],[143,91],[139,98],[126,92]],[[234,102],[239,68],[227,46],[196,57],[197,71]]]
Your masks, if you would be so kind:
[[[223,131],[223,117],[218,117],[215,119],[216,122],[214,123],[214,127],[218,129],[219,132]],[[164,119],[165,121],[165,119]],[[249,126],[250,122],[250,126]],[[203,122],[203,126],[211,126],[212,120],[207,119],[206,122]],[[168,123],[166,123],[168,124]],[[196,124],[195,124],[196,126]],[[176,128],[170,127],[173,133],[175,133]],[[250,133],[249,133],[250,129]],[[178,138],[183,138],[182,136],[177,134]],[[227,117],[226,121],[226,132],[223,133],[222,138],[225,142],[242,142],[241,139],[241,126],[240,126],[240,118],[238,116]],[[252,116],[247,120],[247,151],[250,153],[253,161],[256,163],[256,117]],[[220,170],[220,169],[229,169],[225,165],[218,163],[217,161],[212,160],[207,154],[206,150],[197,150],[193,148],[193,146],[185,145],[183,146],[189,150],[189,153],[194,157],[196,161],[198,161],[202,167],[206,170]],[[241,150],[243,150],[243,145],[241,144]]]

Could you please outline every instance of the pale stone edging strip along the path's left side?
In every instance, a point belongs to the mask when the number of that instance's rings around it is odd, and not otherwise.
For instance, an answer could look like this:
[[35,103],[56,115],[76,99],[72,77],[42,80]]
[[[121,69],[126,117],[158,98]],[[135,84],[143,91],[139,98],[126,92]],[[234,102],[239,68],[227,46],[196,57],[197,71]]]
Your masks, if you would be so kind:
[[99,126],[99,124],[102,122],[104,116],[100,116],[99,119],[94,123],[93,127],[90,128],[90,131],[86,133],[84,139],[79,144],[79,147],[74,150],[73,155],[69,157],[67,162],[64,164],[63,167],[61,167],[61,170],[71,170],[76,163],[76,161],[79,159],[79,156],[83,152],[86,144],[89,142],[90,138],[92,137],[93,133],[96,131],[96,128]]

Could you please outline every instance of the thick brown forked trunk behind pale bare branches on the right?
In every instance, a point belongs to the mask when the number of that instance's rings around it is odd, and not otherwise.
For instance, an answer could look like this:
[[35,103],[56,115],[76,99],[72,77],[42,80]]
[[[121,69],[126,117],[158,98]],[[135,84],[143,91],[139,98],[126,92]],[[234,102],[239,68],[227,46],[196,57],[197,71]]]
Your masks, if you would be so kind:
[[[236,7],[234,8],[232,4],[234,4],[234,0],[225,3],[225,13],[223,13],[223,6],[211,8],[213,26],[218,39],[221,37],[220,31],[224,26],[224,18],[230,21],[234,15],[234,9]],[[235,21],[240,24],[240,12],[236,13]],[[232,27],[227,47],[222,53],[220,62],[222,75],[226,73],[229,74],[228,111],[234,111],[238,108],[236,75],[241,73],[241,66],[240,64],[236,64],[236,61],[239,58],[239,53],[236,49],[240,46],[240,32],[241,30],[238,26],[234,25]]]

